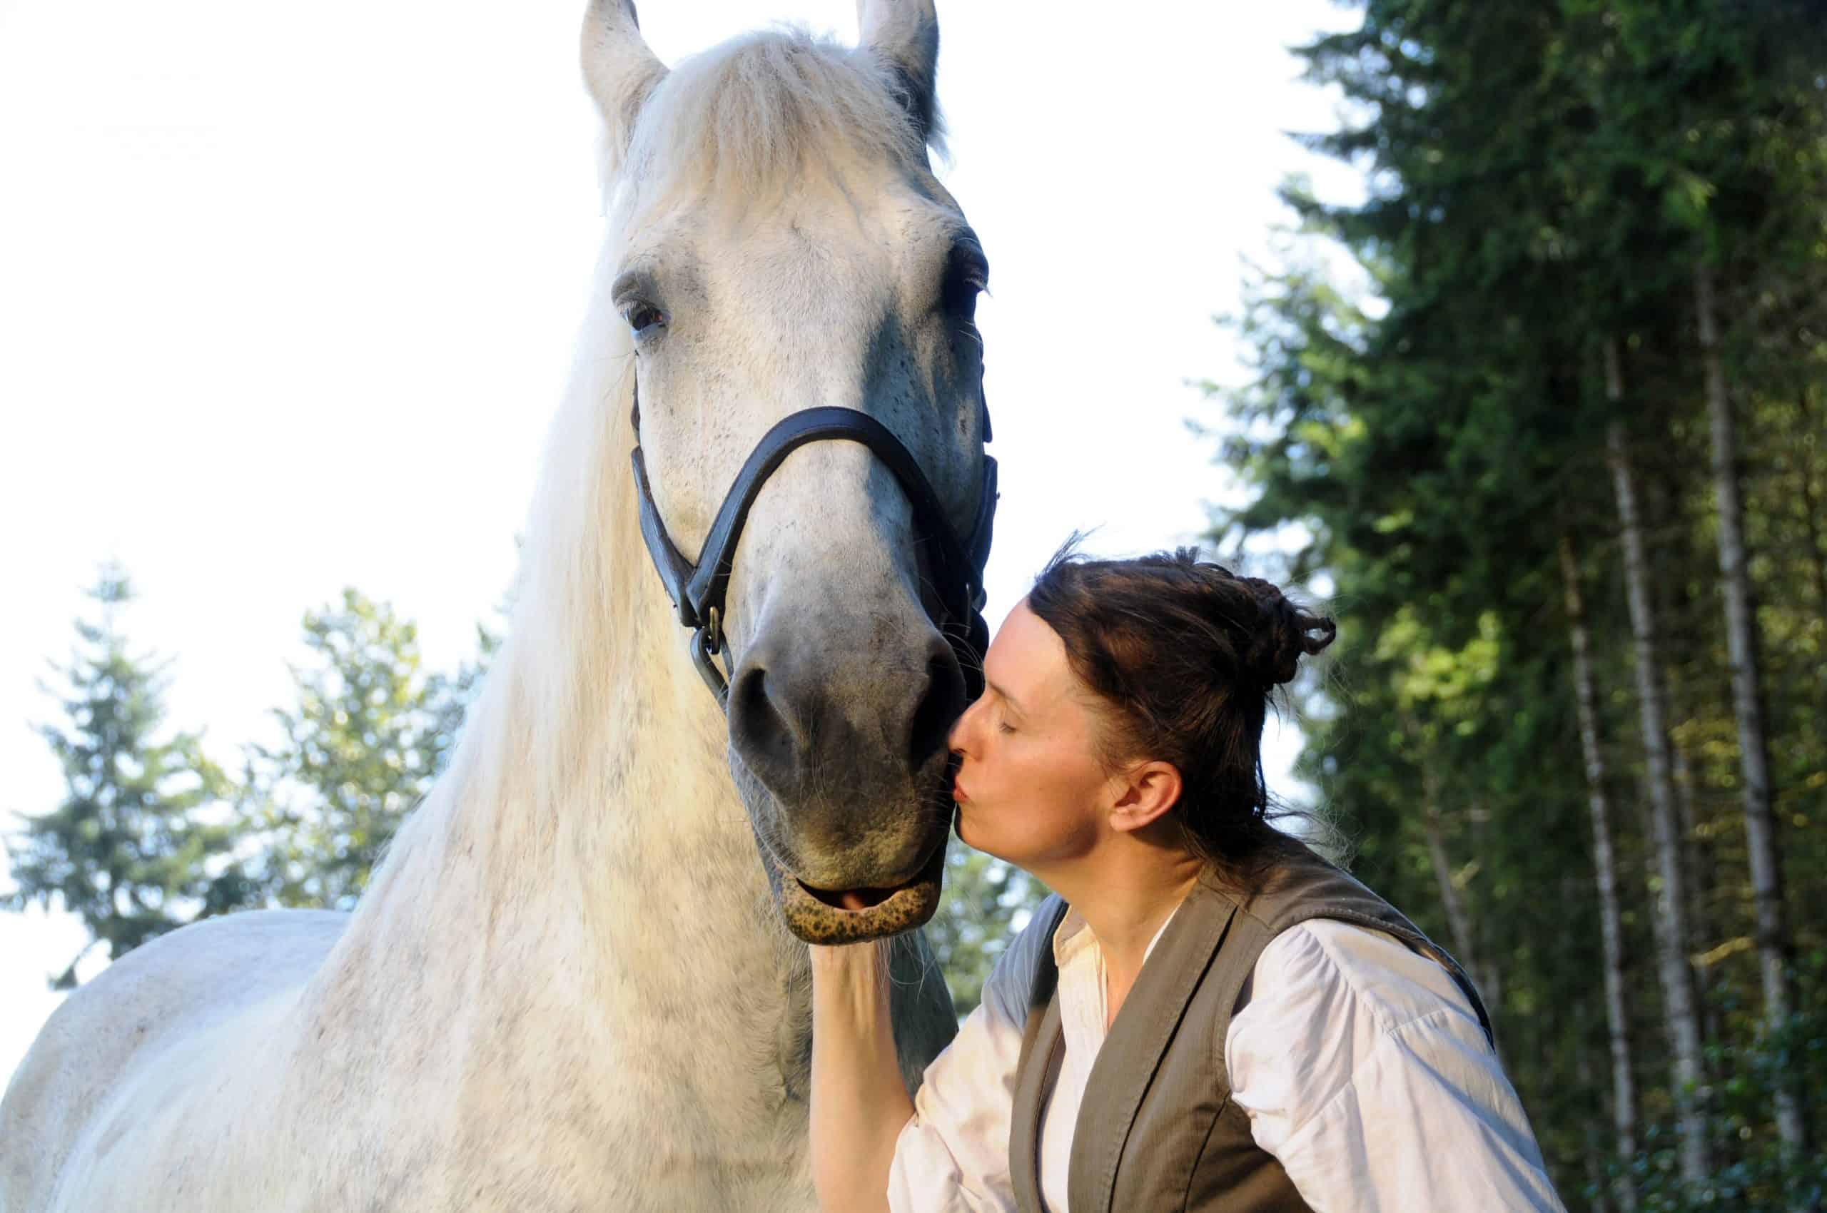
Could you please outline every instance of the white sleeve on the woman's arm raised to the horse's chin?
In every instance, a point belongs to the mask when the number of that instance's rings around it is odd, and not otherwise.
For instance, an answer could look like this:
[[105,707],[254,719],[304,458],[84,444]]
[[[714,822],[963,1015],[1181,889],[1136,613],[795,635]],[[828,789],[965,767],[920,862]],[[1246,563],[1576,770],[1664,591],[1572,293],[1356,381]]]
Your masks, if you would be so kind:
[[983,1001],[926,1067],[888,1171],[893,1213],[1014,1213],[1009,1122],[1029,990],[1051,948],[1049,899],[996,959]]

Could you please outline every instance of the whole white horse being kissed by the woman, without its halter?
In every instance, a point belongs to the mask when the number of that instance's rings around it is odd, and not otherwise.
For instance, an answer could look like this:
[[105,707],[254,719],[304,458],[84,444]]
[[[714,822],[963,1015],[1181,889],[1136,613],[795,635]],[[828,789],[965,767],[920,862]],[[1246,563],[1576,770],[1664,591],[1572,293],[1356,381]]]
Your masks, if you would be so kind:
[[[671,73],[625,4],[585,26],[597,292],[449,773],[353,913],[201,923],[71,996],[0,1103],[0,1211],[813,1208],[795,933],[917,924],[950,822],[930,535],[870,448],[795,449],[734,548],[725,718],[641,543],[630,406],[683,552],[808,406],[890,427],[966,532],[987,270],[928,168],[930,0]],[[892,946],[912,1085],[954,1019],[921,935]]]

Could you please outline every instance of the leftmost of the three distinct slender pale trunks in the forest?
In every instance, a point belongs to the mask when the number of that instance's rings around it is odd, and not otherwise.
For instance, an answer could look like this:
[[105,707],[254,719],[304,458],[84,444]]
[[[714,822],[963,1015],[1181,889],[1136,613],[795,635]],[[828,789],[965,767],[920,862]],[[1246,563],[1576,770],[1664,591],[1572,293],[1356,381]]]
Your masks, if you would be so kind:
[[[1624,985],[1624,913],[1617,897],[1617,857],[1611,848],[1611,804],[1606,796],[1604,749],[1599,745],[1599,691],[1593,680],[1591,636],[1573,539],[1560,535],[1560,579],[1573,634],[1573,698],[1579,705],[1580,749],[1586,754],[1586,798],[1593,818],[1593,870],[1599,877],[1599,935],[1604,941],[1604,1018],[1611,1041],[1611,1123],[1617,1155],[1630,1166],[1637,1155],[1637,1083],[1630,1069],[1630,1003]],[[1619,1208],[1637,1211],[1628,1182],[1617,1189]]]

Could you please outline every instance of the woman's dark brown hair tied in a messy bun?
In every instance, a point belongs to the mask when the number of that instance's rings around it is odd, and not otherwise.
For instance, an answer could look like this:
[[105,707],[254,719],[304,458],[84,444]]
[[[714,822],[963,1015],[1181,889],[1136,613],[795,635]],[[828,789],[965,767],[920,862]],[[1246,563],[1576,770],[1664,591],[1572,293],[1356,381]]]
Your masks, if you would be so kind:
[[1076,544],[1054,554],[1027,601],[1105,707],[1100,760],[1173,764],[1182,791],[1171,817],[1188,849],[1253,890],[1294,846],[1273,818],[1310,817],[1273,802],[1262,780],[1270,698],[1337,628],[1195,548],[1100,561]]

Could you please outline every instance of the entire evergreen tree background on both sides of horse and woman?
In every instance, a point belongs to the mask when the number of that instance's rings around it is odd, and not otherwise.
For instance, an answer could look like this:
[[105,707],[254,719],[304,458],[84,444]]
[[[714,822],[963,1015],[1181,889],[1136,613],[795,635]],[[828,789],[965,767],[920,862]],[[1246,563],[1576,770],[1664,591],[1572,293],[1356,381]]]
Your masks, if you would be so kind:
[[[1195,422],[1209,544],[1325,588],[1299,771],[1352,868],[1493,1007],[1575,1209],[1827,1193],[1827,11],[1370,2],[1299,49],[1348,99]],[[1188,367],[1197,373],[1197,367]],[[1164,537],[1166,539],[1166,537]],[[119,954],[197,913],[347,904],[486,667],[360,592],[307,616],[283,742],[159,729],[104,570],[46,740],[69,795],[15,904]],[[957,849],[961,1008],[1036,890]],[[1811,1103],[1814,1107],[1811,1107]]]

